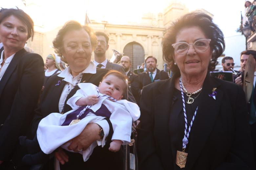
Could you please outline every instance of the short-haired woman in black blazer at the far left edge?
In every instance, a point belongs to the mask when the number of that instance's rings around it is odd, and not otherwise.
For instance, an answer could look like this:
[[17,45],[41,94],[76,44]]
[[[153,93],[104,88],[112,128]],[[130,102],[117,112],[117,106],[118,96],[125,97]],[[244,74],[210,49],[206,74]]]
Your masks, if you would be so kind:
[[34,24],[21,9],[4,9],[0,15],[0,169],[18,168],[18,137],[26,135],[44,81],[40,55],[26,52]]

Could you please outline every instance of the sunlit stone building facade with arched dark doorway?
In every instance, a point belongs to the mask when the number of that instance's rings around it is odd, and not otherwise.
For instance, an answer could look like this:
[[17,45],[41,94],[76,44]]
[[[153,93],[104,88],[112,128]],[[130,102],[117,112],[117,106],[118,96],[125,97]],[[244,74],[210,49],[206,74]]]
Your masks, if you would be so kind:
[[[205,10],[201,10],[213,16]],[[112,49],[115,49],[123,55],[129,56],[133,61],[132,69],[136,69],[137,65],[142,64],[147,56],[153,55],[158,59],[158,68],[163,69],[161,41],[164,30],[172,21],[187,12],[189,10],[184,5],[171,3],[163,10],[163,13],[144,14],[140,23],[117,25],[107,21],[96,22],[91,20],[92,23],[88,26],[95,31],[103,31],[109,36],[108,59],[113,55]],[[27,45],[45,59],[48,54],[53,53],[52,41],[61,27],[44,33],[36,32],[33,43],[28,42]]]

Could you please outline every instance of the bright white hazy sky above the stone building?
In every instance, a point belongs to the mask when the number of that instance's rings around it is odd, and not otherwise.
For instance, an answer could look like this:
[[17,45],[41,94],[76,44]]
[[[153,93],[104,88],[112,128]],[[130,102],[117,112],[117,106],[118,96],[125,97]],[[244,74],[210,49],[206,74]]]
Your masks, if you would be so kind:
[[91,20],[112,24],[139,23],[144,13],[158,14],[172,2],[182,3],[190,11],[202,8],[209,11],[225,37],[241,34],[236,29],[241,21],[240,11],[245,10],[245,0],[0,0],[0,7],[23,9],[35,25],[47,31],[68,20],[84,23],[86,11]]

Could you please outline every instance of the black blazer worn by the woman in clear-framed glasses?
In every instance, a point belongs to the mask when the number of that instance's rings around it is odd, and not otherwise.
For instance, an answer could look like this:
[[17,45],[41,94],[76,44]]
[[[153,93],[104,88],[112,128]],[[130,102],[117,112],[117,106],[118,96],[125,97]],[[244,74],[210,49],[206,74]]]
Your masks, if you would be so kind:
[[[176,158],[172,158],[168,129],[169,114],[172,114],[169,110],[176,102],[173,98],[175,77],[143,88],[141,128],[137,130],[140,170],[174,169],[172,162]],[[215,87],[216,100],[208,95]],[[200,99],[184,170],[255,169],[242,88],[206,76]],[[183,114],[182,107],[174,110]]]

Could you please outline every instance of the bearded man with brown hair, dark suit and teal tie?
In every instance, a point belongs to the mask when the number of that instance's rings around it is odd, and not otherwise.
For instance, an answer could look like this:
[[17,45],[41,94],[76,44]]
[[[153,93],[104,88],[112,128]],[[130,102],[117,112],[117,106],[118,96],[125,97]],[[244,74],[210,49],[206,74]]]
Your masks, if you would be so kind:
[[157,69],[157,59],[153,56],[148,56],[145,59],[147,72],[140,73],[133,81],[131,85],[132,93],[139,105],[140,95],[142,93],[142,88],[150,83],[168,79],[168,74]]

